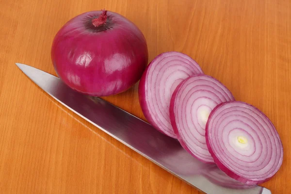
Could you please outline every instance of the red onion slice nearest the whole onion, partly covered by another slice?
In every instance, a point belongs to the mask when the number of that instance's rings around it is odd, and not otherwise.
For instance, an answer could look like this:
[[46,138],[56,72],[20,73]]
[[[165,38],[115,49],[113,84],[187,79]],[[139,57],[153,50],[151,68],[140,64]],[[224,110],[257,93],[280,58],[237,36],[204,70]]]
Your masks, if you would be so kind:
[[203,71],[191,57],[175,51],[158,55],[146,67],[139,83],[139,101],[153,127],[176,138],[169,116],[171,96],[181,81],[198,73]]

